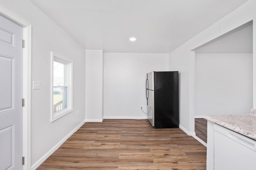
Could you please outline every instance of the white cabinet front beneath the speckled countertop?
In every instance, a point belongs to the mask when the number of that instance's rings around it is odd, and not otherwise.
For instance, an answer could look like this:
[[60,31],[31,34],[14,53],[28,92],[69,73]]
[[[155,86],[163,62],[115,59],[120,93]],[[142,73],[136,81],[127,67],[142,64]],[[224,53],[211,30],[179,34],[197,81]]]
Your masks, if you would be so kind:
[[220,125],[212,125],[207,170],[256,170],[256,141]]

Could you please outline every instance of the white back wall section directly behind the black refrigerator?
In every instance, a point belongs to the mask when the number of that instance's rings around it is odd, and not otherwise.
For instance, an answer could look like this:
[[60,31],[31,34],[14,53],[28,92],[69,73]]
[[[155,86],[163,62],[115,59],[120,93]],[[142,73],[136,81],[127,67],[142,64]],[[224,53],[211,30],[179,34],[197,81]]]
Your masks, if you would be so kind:
[[104,118],[146,119],[146,73],[167,70],[168,54],[104,53]]

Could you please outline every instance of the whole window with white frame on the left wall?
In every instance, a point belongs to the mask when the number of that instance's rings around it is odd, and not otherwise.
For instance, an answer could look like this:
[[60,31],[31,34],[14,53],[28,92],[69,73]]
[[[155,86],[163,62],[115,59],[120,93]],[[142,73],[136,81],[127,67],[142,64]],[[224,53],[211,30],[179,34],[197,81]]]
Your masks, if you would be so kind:
[[54,121],[73,110],[73,61],[54,52],[51,52],[51,61],[51,121]]

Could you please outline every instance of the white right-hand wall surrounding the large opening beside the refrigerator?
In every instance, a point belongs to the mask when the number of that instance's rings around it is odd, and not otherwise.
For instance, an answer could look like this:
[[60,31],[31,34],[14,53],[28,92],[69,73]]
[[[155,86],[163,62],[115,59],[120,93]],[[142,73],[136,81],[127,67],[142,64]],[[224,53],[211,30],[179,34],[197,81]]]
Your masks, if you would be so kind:
[[[191,50],[227,33],[228,31],[256,19],[256,1],[249,0],[232,13],[208,27],[169,54],[169,70],[180,72],[180,125],[189,133],[194,133],[193,96],[193,62],[190,62]],[[188,25],[189,26],[189,25]],[[256,42],[255,22],[253,23],[253,42]],[[256,46],[253,46],[253,106],[256,107]],[[191,70],[190,70],[191,69]],[[191,100],[190,100],[191,99]],[[249,113],[249,110],[248,110]]]

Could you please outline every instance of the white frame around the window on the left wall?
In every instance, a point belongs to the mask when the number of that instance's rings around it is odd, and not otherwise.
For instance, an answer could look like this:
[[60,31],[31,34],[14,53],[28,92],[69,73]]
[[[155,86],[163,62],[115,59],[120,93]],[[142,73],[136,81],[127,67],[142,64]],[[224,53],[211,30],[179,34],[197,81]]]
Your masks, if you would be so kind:
[[[67,87],[67,107],[65,109],[62,109],[60,111],[57,112],[53,112],[53,88],[54,88],[54,84],[53,84],[53,62],[56,61],[58,63],[62,63],[66,65],[66,74],[65,74],[65,78],[66,78],[66,84],[65,86]],[[59,119],[60,117],[70,113],[73,111],[73,61],[63,57],[62,55],[59,55],[58,53],[52,52],[51,51],[51,104],[50,104],[50,108],[51,108],[51,122]]]

